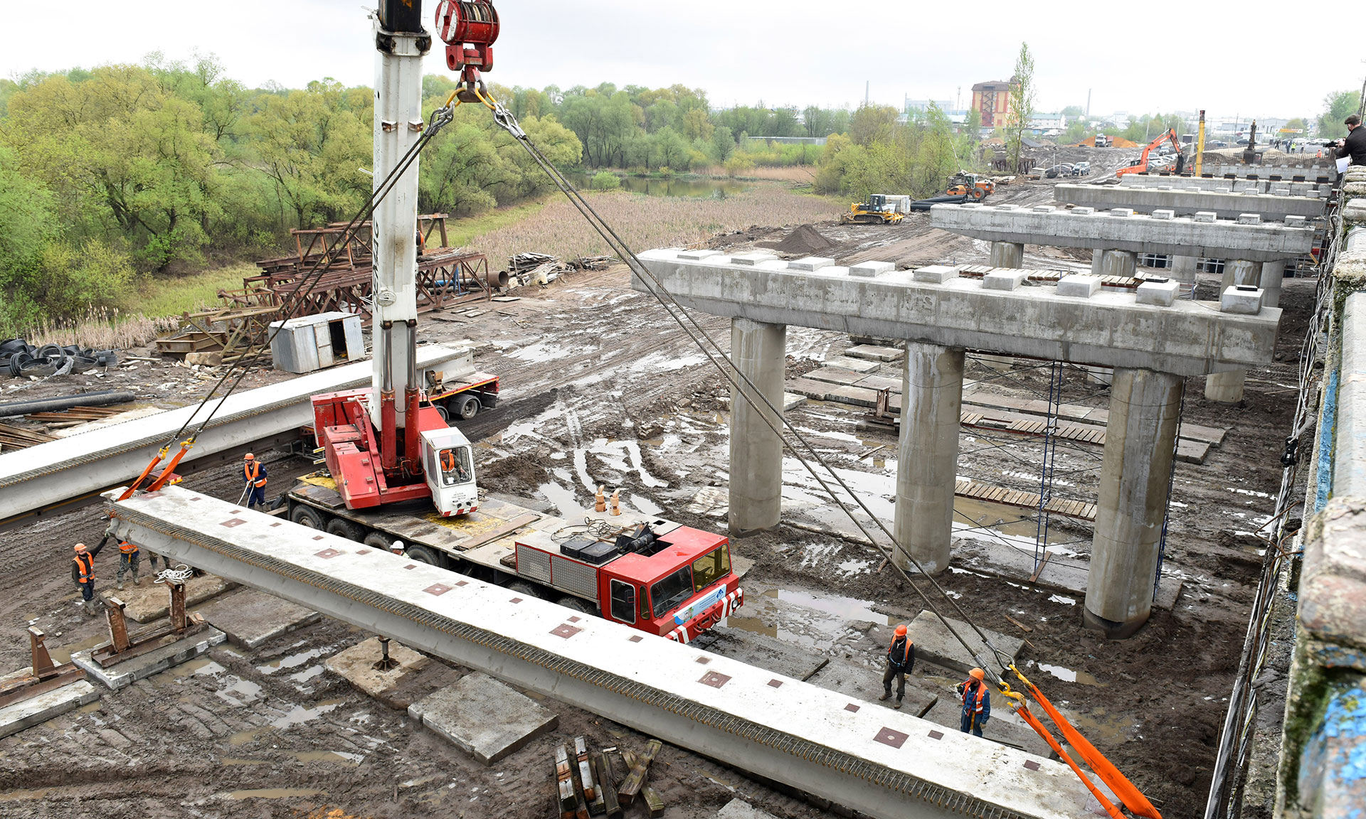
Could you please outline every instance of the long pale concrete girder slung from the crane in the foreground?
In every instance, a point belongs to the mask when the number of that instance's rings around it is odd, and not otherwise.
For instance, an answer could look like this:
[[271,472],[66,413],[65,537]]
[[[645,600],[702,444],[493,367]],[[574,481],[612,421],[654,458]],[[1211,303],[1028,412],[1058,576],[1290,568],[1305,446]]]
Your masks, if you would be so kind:
[[869,816],[1089,811],[1061,763],[179,486],[112,512],[146,549]]

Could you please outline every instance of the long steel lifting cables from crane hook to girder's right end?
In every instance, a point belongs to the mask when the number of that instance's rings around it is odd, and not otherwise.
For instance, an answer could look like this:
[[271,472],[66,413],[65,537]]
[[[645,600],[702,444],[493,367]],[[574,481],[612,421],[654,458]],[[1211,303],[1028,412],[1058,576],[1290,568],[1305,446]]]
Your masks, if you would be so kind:
[[[604,220],[593,209],[593,206],[587,203],[587,201],[574,188],[572,184],[570,184],[568,180],[563,177],[563,175],[559,173],[555,165],[550,164],[550,161],[540,152],[540,149],[535,147],[530,136],[527,136],[526,131],[522,130],[522,127],[518,124],[512,113],[508,112],[500,102],[493,100],[492,96],[485,96],[485,94],[488,94],[486,90],[484,90],[484,93],[479,94],[481,101],[484,101],[485,106],[493,112],[494,123],[497,123],[499,127],[505,130],[514,139],[516,139],[526,149],[526,152],[541,167],[541,169],[546,172],[546,175],[556,184],[556,187],[560,188],[560,192],[563,192],[570,199],[570,203],[574,205],[574,207],[589,221],[593,229],[613,250],[622,254],[623,261],[627,262],[627,265],[637,274],[641,276],[641,280],[646,284],[650,295],[653,295],[656,300],[660,302],[665,313],[669,314],[669,318],[672,318],[675,324],[678,324],[679,328],[698,345],[702,354],[721,373],[721,375],[731,384],[731,386],[736,388],[740,396],[755,410],[759,410],[759,407],[757,407],[754,403],[754,397],[758,397],[764,403],[764,405],[769,410],[769,412],[772,412],[773,416],[777,418],[779,422],[788,431],[792,433],[792,437],[796,438],[800,442],[800,445],[805,446],[806,450],[811,453],[811,459],[816,460],[816,463],[818,463],[831,475],[831,478],[835,479],[836,483],[839,483],[839,486],[850,495],[850,498],[852,498],[854,502],[858,504],[859,508],[877,524],[877,528],[880,528],[882,534],[887,535],[887,538],[900,550],[900,543],[896,541],[892,532],[888,531],[887,526],[881,521],[881,519],[878,519],[877,515],[874,515],[873,511],[867,508],[863,500],[859,498],[859,495],[855,494],[852,489],[850,489],[848,483],[846,483],[844,479],[839,475],[839,472],[836,472],[833,467],[831,467],[825,461],[825,459],[821,457],[821,455],[816,450],[814,446],[811,446],[811,444],[802,435],[802,433],[798,431],[791,422],[783,418],[781,411],[779,411],[779,408],[775,407],[773,403],[769,401],[769,399],[762,392],[758,390],[758,388],[755,388],[754,382],[750,381],[749,377],[746,377],[743,373],[739,371],[739,369],[735,367],[735,363],[731,362],[729,356],[727,356],[724,351],[721,351],[716,340],[712,339],[710,334],[701,325],[698,325],[697,321],[688,314],[688,311],[673,299],[673,296],[668,292],[664,284],[641,262],[639,258],[637,258],[635,253],[631,251],[631,248],[612,229],[612,227],[607,224],[607,220]],[[708,345],[710,345],[710,348]],[[962,643],[963,648],[967,650],[968,655],[971,655],[973,659],[977,661],[979,665],[985,666],[986,663],[982,663],[981,658],[977,655],[977,651],[948,622],[948,618],[938,610],[938,607],[933,603],[933,601],[930,601],[929,595],[926,595],[925,591],[922,591],[921,587],[917,586],[914,580],[911,580],[911,576],[910,573],[906,572],[906,569],[899,566],[896,561],[892,560],[891,553],[887,549],[884,549],[872,535],[872,532],[867,531],[863,523],[858,517],[855,517],[854,512],[844,504],[843,500],[840,500],[839,494],[829,486],[829,483],[826,483],[826,480],[811,465],[811,463],[806,457],[803,457],[803,455],[798,450],[798,448],[788,441],[787,435],[784,435],[783,430],[777,427],[773,419],[769,418],[769,415],[762,410],[759,410],[758,415],[759,418],[764,419],[765,426],[768,426],[773,431],[773,434],[776,434],[779,440],[783,441],[785,448],[791,450],[792,455],[802,463],[802,465],[811,475],[811,478],[814,478],[816,482],[821,485],[821,489],[825,490],[825,493],[829,494],[831,498],[840,506],[840,511],[844,512],[848,516],[848,519],[854,523],[854,526],[858,527],[858,530],[863,534],[863,536],[867,538],[867,541],[873,545],[873,547],[877,549],[878,553],[881,553],[882,557],[887,558],[887,561],[902,575],[906,583],[925,602],[925,605],[930,609],[930,612],[933,612],[934,616],[938,617],[941,622],[944,622],[944,627],[949,631],[949,633],[953,635],[953,637],[959,643]],[[902,551],[902,554],[904,554],[906,558],[910,560],[911,564],[915,566],[915,569],[921,572],[930,581],[930,584],[933,584],[934,590],[938,591],[944,597],[944,599],[947,599],[953,606],[955,612],[963,618],[963,621],[967,622],[974,632],[977,632],[982,643],[996,655],[996,661],[997,663],[1000,663],[1001,669],[1008,670],[1011,667],[1011,657],[992,643],[990,637],[988,637],[986,633],[981,628],[978,628],[975,622],[973,622],[973,618],[967,614],[967,612],[963,610],[963,607],[958,603],[958,601],[955,601],[951,595],[948,595],[944,587],[940,586],[933,576],[925,572],[923,566],[921,566],[919,561],[917,561],[915,557],[912,557],[906,551]],[[997,677],[997,680],[1000,680],[1004,684],[1004,677],[1001,674],[997,674],[996,672],[989,669],[984,670],[988,670],[988,673],[992,673],[994,677]]]

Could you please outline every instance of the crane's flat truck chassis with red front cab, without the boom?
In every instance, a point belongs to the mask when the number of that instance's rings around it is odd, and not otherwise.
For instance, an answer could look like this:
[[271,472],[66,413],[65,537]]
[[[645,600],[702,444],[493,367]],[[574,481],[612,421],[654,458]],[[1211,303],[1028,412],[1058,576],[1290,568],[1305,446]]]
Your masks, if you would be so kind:
[[[473,471],[469,478],[473,491]],[[460,517],[443,516],[429,501],[348,509],[336,482],[314,472],[281,495],[280,511],[306,527],[402,549],[415,562],[680,643],[744,602],[728,538],[626,509],[591,512],[581,524],[488,495]]]

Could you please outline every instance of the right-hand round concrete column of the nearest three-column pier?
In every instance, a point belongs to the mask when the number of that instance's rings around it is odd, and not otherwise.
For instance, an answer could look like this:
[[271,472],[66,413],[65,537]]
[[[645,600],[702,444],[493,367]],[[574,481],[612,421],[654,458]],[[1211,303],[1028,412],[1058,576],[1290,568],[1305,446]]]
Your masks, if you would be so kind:
[[1087,628],[1112,639],[1152,613],[1182,385],[1168,373],[1115,370],[1083,612]]

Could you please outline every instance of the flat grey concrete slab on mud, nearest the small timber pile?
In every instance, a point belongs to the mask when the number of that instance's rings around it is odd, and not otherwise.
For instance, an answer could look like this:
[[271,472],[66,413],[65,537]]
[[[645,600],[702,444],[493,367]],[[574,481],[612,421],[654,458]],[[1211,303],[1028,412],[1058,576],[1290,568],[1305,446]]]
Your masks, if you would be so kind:
[[408,706],[408,715],[484,764],[493,764],[555,730],[559,714],[493,677],[470,673]]

